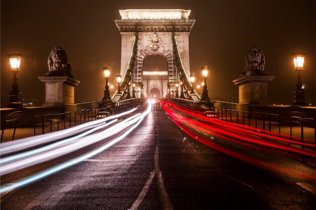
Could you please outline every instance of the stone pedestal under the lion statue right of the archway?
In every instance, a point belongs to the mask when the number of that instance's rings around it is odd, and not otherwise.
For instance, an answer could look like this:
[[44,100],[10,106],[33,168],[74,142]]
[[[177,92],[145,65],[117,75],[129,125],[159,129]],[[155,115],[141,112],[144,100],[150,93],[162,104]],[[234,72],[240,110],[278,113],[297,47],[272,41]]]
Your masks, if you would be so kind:
[[233,83],[239,85],[238,110],[248,111],[250,104],[269,104],[268,82],[275,76],[244,76],[235,79]]

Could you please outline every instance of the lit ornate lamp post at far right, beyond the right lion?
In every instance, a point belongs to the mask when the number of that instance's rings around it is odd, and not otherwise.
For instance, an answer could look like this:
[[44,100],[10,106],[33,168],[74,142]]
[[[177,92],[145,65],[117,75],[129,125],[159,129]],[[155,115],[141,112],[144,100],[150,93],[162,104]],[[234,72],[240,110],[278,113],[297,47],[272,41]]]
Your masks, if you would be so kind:
[[296,89],[293,91],[294,99],[293,105],[294,106],[306,106],[305,102],[305,90],[302,88],[303,84],[301,81],[301,72],[305,70],[304,68],[304,59],[306,53],[293,53],[292,57],[294,60],[294,70],[297,72],[297,83]]

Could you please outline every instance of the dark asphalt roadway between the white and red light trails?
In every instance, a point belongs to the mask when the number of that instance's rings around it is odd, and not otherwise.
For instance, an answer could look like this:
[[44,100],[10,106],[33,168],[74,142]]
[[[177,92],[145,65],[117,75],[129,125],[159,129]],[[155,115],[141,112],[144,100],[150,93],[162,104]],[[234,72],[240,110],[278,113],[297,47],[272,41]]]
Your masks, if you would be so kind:
[[4,194],[1,209],[315,209],[314,191],[191,139],[155,104],[127,138]]

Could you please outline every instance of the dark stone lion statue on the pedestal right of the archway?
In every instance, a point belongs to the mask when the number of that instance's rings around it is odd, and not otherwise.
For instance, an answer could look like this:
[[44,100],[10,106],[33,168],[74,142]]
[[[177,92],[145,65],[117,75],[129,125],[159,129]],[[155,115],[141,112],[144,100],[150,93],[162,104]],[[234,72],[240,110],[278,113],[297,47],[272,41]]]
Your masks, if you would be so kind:
[[240,74],[240,77],[243,76],[252,76],[252,75],[267,75],[265,71],[266,57],[257,46],[251,47],[245,57],[245,69]]

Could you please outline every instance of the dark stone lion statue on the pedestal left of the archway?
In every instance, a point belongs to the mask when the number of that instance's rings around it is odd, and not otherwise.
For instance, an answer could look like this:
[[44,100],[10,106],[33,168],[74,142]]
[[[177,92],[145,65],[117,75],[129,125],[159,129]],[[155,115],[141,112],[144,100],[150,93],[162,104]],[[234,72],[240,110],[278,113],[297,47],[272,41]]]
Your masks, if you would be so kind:
[[68,57],[66,51],[60,47],[54,47],[48,56],[48,73],[46,76],[67,76],[74,78],[71,74],[71,66],[68,64]]

